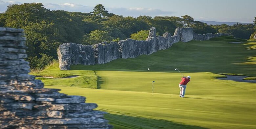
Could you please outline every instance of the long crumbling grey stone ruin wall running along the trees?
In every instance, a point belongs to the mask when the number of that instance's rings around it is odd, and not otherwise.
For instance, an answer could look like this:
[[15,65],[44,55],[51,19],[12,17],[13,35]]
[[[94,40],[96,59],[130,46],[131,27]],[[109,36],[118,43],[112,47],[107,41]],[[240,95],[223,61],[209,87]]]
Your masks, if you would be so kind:
[[78,45],[75,43],[63,43],[58,48],[60,70],[70,70],[70,65],[104,64],[118,58],[135,58],[139,55],[150,55],[158,50],[164,50],[173,43],[190,40],[209,40],[214,37],[228,35],[218,34],[196,34],[193,28],[176,28],[175,33],[164,33],[156,36],[156,28],[151,27],[148,38],[142,40],[120,40],[117,42],[102,42],[95,45]]

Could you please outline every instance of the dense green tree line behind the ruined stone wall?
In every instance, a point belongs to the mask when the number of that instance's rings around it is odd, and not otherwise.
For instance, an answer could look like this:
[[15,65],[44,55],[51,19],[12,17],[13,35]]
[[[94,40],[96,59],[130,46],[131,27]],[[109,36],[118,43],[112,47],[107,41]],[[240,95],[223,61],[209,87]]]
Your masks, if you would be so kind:
[[27,60],[31,68],[42,69],[57,59],[56,49],[64,42],[95,44],[102,41],[118,41],[126,38],[145,40],[151,26],[157,34],[174,33],[177,27],[193,27],[198,34],[229,33],[238,38],[249,39],[255,31],[253,24],[229,26],[207,25],[188,15],[124,17],[109,13],[98,4],[93,12],[68,12],[44,8],[42,3],[9,5],[0,13],[0,27],[23,28],[27,38]]

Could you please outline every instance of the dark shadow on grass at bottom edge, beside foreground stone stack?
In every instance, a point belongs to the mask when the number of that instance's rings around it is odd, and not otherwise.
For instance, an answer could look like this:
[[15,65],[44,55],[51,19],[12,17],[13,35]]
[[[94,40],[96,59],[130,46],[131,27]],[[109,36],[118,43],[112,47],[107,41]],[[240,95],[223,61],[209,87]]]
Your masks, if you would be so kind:
[[104,118],[110,121],[109,123],[114,126],[114,129],[207,129],[200,126],[174,123],[166,120],[156,120],[116,114],[106,114]]

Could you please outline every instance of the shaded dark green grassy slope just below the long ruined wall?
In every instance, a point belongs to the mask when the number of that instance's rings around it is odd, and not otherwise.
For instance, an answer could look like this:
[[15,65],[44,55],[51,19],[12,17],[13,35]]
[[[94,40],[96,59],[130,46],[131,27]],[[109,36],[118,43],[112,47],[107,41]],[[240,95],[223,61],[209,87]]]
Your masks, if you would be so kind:
[[[218,40],[226,40],[218,38]],[[213,41],[212,41],[213,40]],[[73,70],[180,71],[236,73],[256,76],[256,41],[239,44],[224,41],[190,41],[173,44],[166,50],[137,58],[117,59],[106,64],[73,65]]]

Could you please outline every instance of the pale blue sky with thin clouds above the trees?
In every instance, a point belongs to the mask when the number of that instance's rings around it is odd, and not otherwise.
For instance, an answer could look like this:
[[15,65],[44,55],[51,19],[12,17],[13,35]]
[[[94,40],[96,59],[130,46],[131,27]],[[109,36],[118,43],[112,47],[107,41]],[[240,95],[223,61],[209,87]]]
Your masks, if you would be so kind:
[[253,23],[256,0],[0,0],[0,12],[9,4],[43,3],[50,10],[92,12],[97,4],[117,15],[138,17],[189,15],[197,21]]

